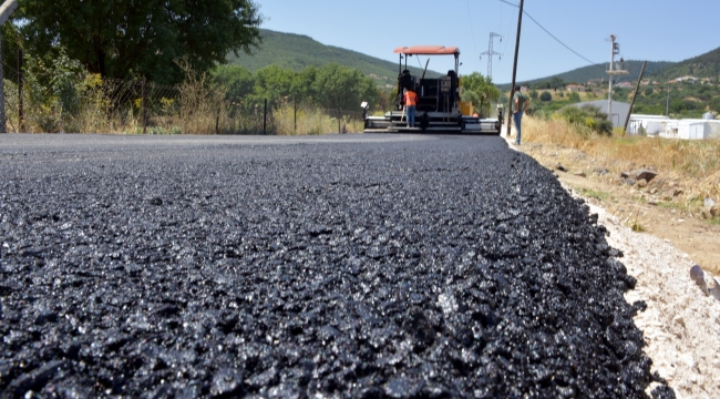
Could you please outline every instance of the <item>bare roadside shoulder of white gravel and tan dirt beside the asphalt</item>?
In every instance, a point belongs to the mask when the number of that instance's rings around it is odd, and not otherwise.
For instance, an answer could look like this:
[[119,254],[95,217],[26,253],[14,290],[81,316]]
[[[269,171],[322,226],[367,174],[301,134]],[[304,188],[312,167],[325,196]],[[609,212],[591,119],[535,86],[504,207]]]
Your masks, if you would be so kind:
[[[608,244],[625,254],[620,260],[638,282],[626,299],[647,304],[635,323],[644,331],[652,371],[678,398],[719,398],[720,301],[702,294],[689,270],[699,264],[718,275],[720,226],[672,206],[676,198],[666,198],[665,206],[650,205],[652,188],[620,183],[618,172],[582,152],[536,143],[513,147],[555,171],[568,192],[584,197],[608,229]],[[665,181],[676,188],[673,194],[687,184]]]

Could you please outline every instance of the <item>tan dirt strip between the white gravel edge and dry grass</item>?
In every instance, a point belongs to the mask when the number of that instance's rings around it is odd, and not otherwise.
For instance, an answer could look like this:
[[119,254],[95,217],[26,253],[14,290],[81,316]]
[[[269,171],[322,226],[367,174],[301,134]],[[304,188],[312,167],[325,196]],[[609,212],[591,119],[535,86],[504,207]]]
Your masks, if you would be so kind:
[[[645,187],[631,186],[623,183],[618,165],[603,164],[577,150],[537,143],[523,143],[516,149],[554,171],[563,184],[626,226],[635,225],[638,233],[671,244],[704,270],[720,275],[720,225],[703,218],[700,208],[683,205],[692,181],[660,173]],[[566,171],[558,170],[558,164]]]

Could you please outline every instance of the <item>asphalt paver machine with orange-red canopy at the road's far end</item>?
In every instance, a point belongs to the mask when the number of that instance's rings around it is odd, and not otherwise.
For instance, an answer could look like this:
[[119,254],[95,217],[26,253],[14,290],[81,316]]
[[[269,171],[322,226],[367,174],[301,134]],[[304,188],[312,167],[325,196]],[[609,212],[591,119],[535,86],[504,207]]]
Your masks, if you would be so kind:
[[[403,47],[394,50],[400,55],[398,66],[398,98],[393,110],[384,116],[368,116],[364,113],[366,133],[459,133],[459,134],[496,134],[502,127],[502,108],[497,109],[497,119],[482,117],[473,112],[472,104],[461,103],[460,91],[462,78],[459,75],[460,49],[442,45]],[[445,55],[455,58],[455,69],[440,78],[425,78],[428,63],[421,76],[412,75],[408,70],[408,59],[413,55]],[[404,69],[402,60],[405,60]],[[403,111],[403,89],[418,94],[415,126],[409,127]]]

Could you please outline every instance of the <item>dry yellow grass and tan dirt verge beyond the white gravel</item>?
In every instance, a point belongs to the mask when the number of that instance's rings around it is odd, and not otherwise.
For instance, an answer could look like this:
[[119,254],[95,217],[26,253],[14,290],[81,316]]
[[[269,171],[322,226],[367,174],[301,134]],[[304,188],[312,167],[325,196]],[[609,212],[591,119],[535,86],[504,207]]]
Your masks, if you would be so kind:
[[[720,276],[720,217],[711,217],[704,206],[704,198],[720,203],[719,146],[711,141],[600,136],[564,121],[526,117],[517,150],[634,232],[671,243]],[[658,173],[647,185],[630,185],[620,176],[641,167]]]

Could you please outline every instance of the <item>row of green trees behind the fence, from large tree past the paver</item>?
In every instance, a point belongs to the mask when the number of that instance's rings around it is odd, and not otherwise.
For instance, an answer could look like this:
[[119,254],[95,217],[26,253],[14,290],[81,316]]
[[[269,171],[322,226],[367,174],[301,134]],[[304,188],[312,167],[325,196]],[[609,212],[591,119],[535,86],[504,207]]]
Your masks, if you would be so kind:
[[[227,65],[228,53],[250,54],[261,44],[264,17],[253,0],[24,0],[12,18],[2,28],[6,60],[22,49],[25,79],[44,88],[33,95],[48,95],[33,103],[60,106],[61,113],[78,103],[79,91],[71,89],[81,88],[86,76],[177,85],[186,82],[188,70],[208,74],[204,82],[245,110],[265,99],[270,105],[294,102],[348,111],[367,101],[388,110],[397,95],[380,90],[360,70],[339,64],[300,72],[270,65],[255,73]],[[12,64],[4,65],[7,76],[13,75],[8,73]],[[462,84],[463,100],[483,111],[500,98],[479,73],[463,76]]]

